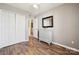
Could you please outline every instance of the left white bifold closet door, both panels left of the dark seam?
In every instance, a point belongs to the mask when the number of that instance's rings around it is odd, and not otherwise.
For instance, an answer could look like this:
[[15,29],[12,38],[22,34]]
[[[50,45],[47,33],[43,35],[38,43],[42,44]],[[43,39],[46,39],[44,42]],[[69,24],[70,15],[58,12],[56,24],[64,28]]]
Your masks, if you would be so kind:
[[12,44],[15,37],[15,13],[1,11],[1,45],[2,47]]

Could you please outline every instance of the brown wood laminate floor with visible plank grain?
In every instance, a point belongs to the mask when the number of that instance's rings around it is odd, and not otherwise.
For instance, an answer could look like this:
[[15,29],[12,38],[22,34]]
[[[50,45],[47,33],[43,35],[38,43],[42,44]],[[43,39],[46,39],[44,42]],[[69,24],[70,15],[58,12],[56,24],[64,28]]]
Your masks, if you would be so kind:
[[44,42],[30,37],[29,42],[17,43],[0,49],[0,55],[79,55],[64,47]]

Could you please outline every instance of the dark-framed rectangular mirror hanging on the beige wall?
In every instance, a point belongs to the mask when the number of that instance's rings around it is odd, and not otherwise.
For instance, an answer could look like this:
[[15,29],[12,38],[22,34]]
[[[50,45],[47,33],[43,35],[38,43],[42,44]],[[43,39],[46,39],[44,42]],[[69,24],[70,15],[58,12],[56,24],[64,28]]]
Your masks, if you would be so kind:
[[42,27],[43,28],[53,27],[53,16],[42,18]]

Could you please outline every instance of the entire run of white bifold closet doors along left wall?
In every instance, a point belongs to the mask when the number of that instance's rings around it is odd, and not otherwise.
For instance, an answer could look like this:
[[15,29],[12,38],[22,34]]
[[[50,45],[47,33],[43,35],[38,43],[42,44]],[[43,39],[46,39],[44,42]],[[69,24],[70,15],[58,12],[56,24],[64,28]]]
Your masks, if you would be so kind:
[[0,48],[25,41],[25,16],[0,10]]

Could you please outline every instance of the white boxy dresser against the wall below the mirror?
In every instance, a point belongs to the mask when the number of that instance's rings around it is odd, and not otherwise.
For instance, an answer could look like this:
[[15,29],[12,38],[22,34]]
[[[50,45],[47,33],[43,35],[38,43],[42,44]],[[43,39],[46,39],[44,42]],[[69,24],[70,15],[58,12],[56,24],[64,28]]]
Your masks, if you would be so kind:
[[44,41],[50,45],[53,40],[53,30],[40,29],[39,30],[39,41]]

